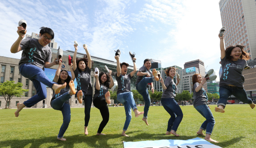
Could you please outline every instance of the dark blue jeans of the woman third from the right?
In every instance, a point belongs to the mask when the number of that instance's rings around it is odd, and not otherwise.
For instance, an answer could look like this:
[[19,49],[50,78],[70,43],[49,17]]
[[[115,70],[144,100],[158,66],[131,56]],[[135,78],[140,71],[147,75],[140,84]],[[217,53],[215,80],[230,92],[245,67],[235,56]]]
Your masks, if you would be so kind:
[[[168,121],[167,131],[170,132],[171,130],[174,130],[176,132],[183,118],[183,113],[180,106],[174,100],[174,98],[162,98],[161,103],[164,109],[171,115]],[[175,116],[175,114],[177,116]]]

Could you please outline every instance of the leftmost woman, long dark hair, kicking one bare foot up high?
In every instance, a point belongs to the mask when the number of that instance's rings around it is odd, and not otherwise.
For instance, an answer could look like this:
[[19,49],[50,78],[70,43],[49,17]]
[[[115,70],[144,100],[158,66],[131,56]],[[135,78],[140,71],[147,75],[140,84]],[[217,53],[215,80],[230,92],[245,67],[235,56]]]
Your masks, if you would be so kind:
[[[68,83],[69,85],[66,85],[64,89],[61,89],[60,93],[58,94],[55,94],[55,92],[53,92],[50,105],[53,109],[59,110],[62,112],[63,123],[62,123],[62,126],[60,127],[60,131],[57,139],[66,141],[66,139],[63,138],[63,135],[68,128],[70,118],[71,118],[69,99],[72,97],[72,95],[76,93],[75,85],[74,85],[75,75],[72,69],[72,64],[70,65],[72,78],[68,75],[68,71],[66,70],[61,71],[61,65],[62,65],[62,61],[60,60],[59,67],[56,70],[53,82],[56,82],[58,84]],[[71,89],[71,91],[69,91],[69,89]],[[81,95],[82,91],[79,91],[78,94]]]

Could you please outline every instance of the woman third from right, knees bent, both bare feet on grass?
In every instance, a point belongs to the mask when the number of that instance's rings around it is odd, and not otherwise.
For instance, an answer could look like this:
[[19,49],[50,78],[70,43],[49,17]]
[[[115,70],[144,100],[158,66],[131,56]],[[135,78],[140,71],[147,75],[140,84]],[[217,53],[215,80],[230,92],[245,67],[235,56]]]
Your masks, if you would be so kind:
[[[180,80],[177,79],[176,84],[173,81],[176,74],[176,69],[174,67],[170,67],[164,72],[167,78],[165,79],[165,81],[163,81],[162,78],[161,81],[159,81],[162,83],[162,87],[164,89],[161,103],[164,109],[171,115],[170,119],[168,120],[166,135],[174,134],[175,136],[180,136],[176,133],[176,131],[183,118],[183,113],[178,103],[174,100],[174,97],[177,93],[177,85],[179,84]],[[175,114],[177,116],[175,116]]]

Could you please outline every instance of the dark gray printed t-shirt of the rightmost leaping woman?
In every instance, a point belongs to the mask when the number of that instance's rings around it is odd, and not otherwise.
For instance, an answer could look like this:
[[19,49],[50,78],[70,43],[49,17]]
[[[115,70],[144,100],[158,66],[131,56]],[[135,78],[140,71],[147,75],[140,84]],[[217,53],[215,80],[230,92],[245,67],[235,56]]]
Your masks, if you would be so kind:
[[223,85],[234,85],[237,87],[244,87],[244,76],[242,71],[244,67],[248,66],[245,59],[238,59],[237,61],[229,61],[226,56],[220,59],[222,66],[222,74],[220,76],[220,87]]

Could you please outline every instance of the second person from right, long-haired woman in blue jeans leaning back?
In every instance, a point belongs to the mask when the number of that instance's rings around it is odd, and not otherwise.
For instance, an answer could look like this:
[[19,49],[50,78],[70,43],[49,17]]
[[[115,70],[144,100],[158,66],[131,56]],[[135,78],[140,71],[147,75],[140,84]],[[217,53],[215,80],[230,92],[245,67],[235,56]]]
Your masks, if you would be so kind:
[[196,73],[192,76],[193,82],[193,95],[194,95],[194,108],[198,111],[206,120],[203,122],[201,127],[199,128],[196,134],[203,134],[203,130],[206,130],[205,140],[210,142],[218,142],[211,138],[212,130],[214,128],[215,119],[212,115],[210,107],[207,105],[208,96],[206,91],[204,90],[204,83],[206,82],[206,78],[202,79],[201,75]]

